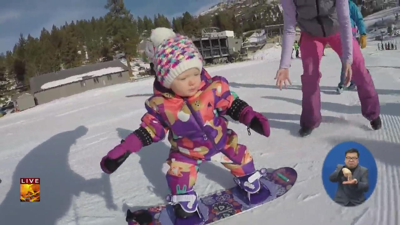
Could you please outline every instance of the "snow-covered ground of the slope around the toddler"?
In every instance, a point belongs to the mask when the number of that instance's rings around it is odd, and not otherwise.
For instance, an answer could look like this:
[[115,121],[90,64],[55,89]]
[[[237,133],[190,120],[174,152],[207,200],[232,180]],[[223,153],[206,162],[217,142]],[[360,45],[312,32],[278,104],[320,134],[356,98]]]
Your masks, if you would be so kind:
[[[322,124],[312,135],[297,135],[301,114],[301,60],[292,60],[292,86],[275,85],[279,60],[256,60],[207,68],[225,76],[231,89],[270,121],[269,138],[247,135],[231,122],[240,143],[250,149],[257,168],[294,167],[294,187],[270,203],[215,224],[398,225],[400,224],[400,50],[362,49],[381,104],[382,129],[372,131],[362,117],[357,92],[334,92],[340,60],[325,50],[322,78]],[[138,128],[152,94],[152,79],[89,90],[0,119],[0,221],[4,225],[126,225],[127,209],[164,203],[170,145],[153,143],[130,155],[112,175],[100,169],[101,158]],[[378,183],[357,207],[341,207],[322,185],[322,164],[338,143],[356,141],[374,155]],[[41,201],[20,203],[19,179],[41,179]],[[232,187],[230,173],[215,163],[200,167],[199,195]],[[29,220],[28,220],[29,218]]]

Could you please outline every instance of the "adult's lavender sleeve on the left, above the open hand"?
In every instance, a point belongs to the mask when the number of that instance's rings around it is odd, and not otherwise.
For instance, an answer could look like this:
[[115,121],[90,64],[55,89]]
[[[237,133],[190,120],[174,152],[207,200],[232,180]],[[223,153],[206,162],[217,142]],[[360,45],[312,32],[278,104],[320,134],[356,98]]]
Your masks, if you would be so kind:
[[294,39],[296,38],[296,8],[292,0],[282,0],[283,40],[279,68],[289,68]]

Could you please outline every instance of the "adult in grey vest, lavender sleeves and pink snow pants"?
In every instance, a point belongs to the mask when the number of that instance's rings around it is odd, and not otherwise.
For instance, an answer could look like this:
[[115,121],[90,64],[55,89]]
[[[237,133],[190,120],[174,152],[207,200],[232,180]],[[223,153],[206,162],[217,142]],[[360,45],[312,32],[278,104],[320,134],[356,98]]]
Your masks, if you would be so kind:
[[295,38],[296,23],[302,33],[302,115],[301,137],[310,135],[321,123],[319,81],[320,61],[324,46],[329,44],[339,55],[346,76],[345,84],[353,79],[361,102],[361,113],[372,129],[381,128],[380,105],[374,82],[364,64],[360,46],[352,36],[348,0],[281,0],[284,15],[284,38],[276,86],[282,90],[289,79],[290,53]]

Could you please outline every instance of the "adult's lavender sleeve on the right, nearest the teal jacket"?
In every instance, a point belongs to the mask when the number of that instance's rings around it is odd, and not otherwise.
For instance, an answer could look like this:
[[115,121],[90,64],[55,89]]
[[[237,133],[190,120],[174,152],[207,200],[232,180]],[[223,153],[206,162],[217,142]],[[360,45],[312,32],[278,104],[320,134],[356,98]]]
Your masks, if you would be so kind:
[[348,0],[336,1],[336,12],[340,26],[340,40],[342,42],[342,62],[353,63],[353,35],[350,24]]

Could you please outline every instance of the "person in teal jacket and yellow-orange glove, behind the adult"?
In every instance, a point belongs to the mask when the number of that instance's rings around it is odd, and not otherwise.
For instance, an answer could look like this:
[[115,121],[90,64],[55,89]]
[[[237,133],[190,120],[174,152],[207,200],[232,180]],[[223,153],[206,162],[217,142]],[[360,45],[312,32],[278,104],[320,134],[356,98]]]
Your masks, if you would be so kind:
[[[362,17],[362,14],[360,12],[360,9],[358,6],[352,1],[349,0],[349,10],[350,10],[350,24],[352,26],[352,31],[353,31],[353,36],[355,37],[358,33],[360,34],[360,46],[361,48],[365,48],[367,44],[366,40],[366,30],[365,30],[365,25],[364,25],[364,18]],[[340,74],[340,83],[338,84],[338,88],[336,91],[338,94],[342,93],[344,90],[344,72],[342,68],[342,72]],[[354,81],[351,80],[350,85],[348,86],[349,90],[356,90],[356,85],[354,84]]]

